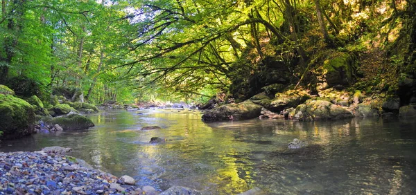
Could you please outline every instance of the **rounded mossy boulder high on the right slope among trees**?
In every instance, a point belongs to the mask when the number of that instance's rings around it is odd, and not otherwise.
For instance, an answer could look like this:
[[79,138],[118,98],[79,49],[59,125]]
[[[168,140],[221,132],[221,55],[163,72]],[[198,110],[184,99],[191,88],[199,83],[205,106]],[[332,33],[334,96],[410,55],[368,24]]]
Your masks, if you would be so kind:
[[333,52],[324,60],[322,76],[328,86],[347,86],[355,80],[356,66],[356,57],[353,54]]

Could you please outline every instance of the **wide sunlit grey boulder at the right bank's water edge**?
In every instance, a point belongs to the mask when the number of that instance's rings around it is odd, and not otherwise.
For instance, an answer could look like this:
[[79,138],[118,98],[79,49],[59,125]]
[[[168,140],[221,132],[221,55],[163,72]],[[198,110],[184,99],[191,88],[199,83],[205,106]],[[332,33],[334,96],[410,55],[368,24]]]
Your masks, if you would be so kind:
[[323,100],[311,100],[300,104],[293,112],[293,119],[297,120],[332,120],[352,118],[354,115],[342,106]]

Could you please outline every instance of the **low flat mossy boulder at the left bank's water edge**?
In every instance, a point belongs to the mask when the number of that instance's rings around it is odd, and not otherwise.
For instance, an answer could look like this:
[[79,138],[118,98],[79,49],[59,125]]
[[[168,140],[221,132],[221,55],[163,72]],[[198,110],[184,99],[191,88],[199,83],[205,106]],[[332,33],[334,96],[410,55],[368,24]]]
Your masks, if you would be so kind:
[[89,127],[94,127],[92,120],[78,114],[65,115],[55,118],[44,118],[42,120],[51,126],[59,124],[59,126],[64,130],[83,130],[88,129]]

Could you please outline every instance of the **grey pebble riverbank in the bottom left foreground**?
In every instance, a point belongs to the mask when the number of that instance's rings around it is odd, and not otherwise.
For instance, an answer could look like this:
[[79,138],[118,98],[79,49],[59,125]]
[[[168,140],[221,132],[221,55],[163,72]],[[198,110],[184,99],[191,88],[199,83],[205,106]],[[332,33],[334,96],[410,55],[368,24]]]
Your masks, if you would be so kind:
[[[45,151],[0,153],[0,194],[159,194],[130,176],[117,178],[83,160]],[[200,194],[173,186],[160,194]]]

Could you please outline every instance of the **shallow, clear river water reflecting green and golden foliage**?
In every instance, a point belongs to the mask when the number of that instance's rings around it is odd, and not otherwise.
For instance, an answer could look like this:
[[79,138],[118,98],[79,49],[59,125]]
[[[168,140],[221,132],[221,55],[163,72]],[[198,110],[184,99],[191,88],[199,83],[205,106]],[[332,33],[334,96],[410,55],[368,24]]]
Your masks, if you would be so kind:
[[[0,151],[58,145],[71,156],[138,185],[204,194],[416,194],[416,120],[323,122],[243,120],[204,123],[199,111],[102,111],[87,131],[38,133]],[[141,131],[157,125],[162,129]],[[151,137],[166,143],[149,144]],[[309,147],[290,150],[294,138]]]

